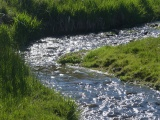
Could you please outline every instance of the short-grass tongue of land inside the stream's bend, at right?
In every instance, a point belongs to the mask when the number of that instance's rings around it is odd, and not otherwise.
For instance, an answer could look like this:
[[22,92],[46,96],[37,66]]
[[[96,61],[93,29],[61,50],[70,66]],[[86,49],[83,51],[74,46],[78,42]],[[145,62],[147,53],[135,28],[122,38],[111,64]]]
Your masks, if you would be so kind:
[[[126,82],[136,82],[160,90],[160,37],[147,38],[120,46],[105,46],[82,57],[71,53],[59,62],[77,63],[102,70]],[[73,62],[72,62],[73,61]],[[80,62],[81,61],[81,62]]]

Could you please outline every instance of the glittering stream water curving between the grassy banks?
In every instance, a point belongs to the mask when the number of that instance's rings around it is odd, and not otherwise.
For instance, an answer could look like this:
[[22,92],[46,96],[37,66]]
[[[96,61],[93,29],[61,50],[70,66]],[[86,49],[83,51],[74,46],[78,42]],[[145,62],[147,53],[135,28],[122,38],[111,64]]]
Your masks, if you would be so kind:
[[160,120],[160,92],[130,85],[106,74],[76,66],[61,66],[63,54],[120,45],[144,37],[158,37],[160,22],[98,34],[44,38],[24,52],[26,62],[41,82],[75,99],[81,120]]

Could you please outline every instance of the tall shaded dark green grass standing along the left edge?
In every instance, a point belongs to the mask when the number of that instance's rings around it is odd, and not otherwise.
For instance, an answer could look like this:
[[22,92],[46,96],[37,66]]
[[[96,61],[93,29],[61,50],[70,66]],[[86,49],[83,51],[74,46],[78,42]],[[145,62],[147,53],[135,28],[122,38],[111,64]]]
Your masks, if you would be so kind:
[[0,86],[1,97],[13,94],[25,95],[28,68],[13,50],[13,40],[7,26],[0,26]]

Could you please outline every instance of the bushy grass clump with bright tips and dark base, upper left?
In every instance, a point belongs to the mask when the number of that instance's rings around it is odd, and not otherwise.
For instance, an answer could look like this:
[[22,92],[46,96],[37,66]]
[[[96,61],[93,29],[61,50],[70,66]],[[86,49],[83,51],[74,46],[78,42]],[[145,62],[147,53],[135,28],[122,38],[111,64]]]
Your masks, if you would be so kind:
[[41,22],[26,13],[18,14],[14,19],[14,39],[24,46],[37,38],[40,38]]

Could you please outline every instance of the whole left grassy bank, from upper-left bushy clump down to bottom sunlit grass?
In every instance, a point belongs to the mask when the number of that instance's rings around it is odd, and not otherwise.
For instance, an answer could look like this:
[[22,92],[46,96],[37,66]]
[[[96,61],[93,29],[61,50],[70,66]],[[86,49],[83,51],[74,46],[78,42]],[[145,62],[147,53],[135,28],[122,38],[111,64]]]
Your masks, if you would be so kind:
[[41,22],[0,4],[0,119],[77,120],[77,105],[43,86],[19,55],[40,37]]

